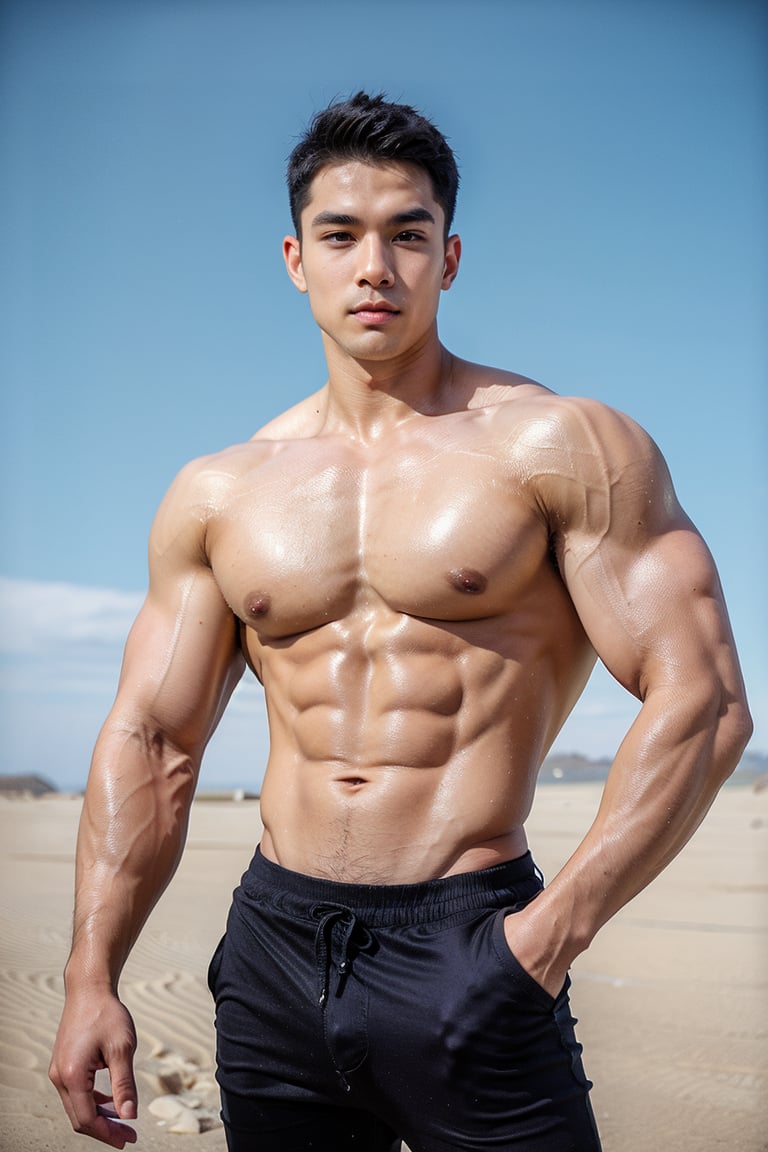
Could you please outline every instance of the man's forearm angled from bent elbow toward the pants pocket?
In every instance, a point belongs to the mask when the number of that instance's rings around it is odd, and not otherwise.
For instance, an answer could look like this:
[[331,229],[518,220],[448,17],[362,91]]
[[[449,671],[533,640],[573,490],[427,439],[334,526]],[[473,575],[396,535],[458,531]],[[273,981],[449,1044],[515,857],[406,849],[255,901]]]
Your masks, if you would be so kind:
[[679,852],[738,764],[743,699],[697,688],[649,695],[611,767],[595,820],[531,905],[548,963],[564,969]]

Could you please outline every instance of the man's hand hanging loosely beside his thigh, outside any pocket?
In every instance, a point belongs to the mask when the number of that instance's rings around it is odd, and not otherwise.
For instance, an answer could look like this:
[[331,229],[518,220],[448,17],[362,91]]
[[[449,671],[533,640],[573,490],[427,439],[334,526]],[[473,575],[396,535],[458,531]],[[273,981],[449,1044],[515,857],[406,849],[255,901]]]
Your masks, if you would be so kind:
[[[67,998],[48,1075],[76,1132],[115,1149],[136,1143],[136,1130],[123,1123],[137,1114],[135,1051],[130,1013],[112,992]],[[94,1087],[101,1068],[109,1071],[112,1097]]]

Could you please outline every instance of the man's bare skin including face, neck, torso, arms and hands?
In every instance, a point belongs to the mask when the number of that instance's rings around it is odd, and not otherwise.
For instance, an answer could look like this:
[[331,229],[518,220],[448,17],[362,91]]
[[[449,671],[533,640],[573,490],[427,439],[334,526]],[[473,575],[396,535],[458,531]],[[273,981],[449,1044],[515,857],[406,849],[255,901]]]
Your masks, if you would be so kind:
[[537,773],[595,654],[640,702],[594,824],[510,948],[556,994],[680,850],[751,732],[709,552],[628,417],[451,356],[457,236],[409,165],[322,168],[287,237],[328,382],[188,465],[99,737],[51,1076],[73,1126],[107,1067],[136,1116],[121,969],[182,854],[207,740],[245,662],[266,690],[264,855],[408,884],[527,847]]

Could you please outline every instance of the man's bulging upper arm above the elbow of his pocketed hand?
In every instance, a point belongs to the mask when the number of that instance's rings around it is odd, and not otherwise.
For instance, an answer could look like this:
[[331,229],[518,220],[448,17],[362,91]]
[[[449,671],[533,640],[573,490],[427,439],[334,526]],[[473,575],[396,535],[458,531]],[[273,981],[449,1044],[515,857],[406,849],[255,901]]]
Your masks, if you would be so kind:
[[633,695],[738,683],[720,581],[666,461],[633,420],[592,401],[557,406],[539,452],[561,574],[603,664]]

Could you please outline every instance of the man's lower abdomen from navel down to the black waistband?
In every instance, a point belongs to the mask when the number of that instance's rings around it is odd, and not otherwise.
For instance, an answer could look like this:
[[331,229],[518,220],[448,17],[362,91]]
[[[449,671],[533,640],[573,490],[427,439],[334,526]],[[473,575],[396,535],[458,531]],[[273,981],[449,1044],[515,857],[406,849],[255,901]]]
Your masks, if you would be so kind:
[[359,771],[271,763],[263,855],[301,874],[378,886],[479,871],[527,848],[532,779],[499,760]]

